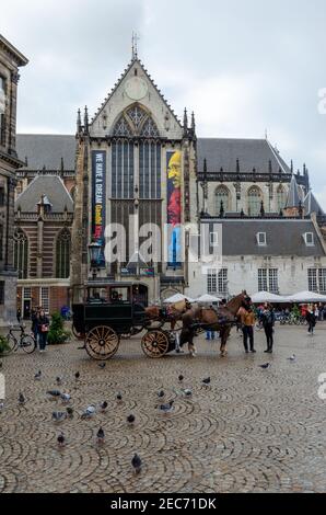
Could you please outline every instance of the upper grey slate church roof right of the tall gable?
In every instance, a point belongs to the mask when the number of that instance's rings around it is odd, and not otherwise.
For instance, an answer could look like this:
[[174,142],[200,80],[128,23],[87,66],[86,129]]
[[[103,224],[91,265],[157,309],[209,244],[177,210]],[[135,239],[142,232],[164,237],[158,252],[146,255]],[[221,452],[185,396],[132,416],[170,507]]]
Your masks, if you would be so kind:
[[240,173],[269,172],[291,173],[290,168],[267,139],[238,139],[238,138],[198,138],[197,140],[198,170],[202,171],[203,159],[207,160],[208,173],[235,173],[238,160]]

